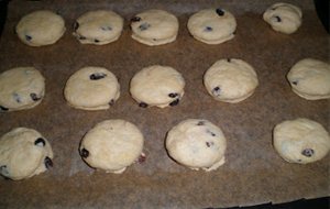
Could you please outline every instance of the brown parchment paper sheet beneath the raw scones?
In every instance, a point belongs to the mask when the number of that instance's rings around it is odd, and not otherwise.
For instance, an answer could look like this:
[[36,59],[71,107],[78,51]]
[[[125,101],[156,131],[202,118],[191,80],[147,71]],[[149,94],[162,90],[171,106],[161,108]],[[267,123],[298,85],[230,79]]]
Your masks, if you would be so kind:
[[[329,125],[329,100],[308,101],[296,96],[286,80],[301,58],[329,62],[329,35],[311,0],[289,1],[302,9],[300,29],[285,35],[262,20],[274,3],[265,1],[11,1],[0,43],[0,72],[34,66],[46,78],[46,95],[34,109],[0,114],[0,134],[16,127],[40,131],[52,144],[54,167],[26,180],[0,179],[0,208],[206,208],[285,202],[329,196],[329,160],[298,165],[283,161],[272,146],[272,130],[283,120],[309,118]],[[189,15],[205,8],[224,8],[238,21],[235,37],[219,45],[194,40],[186,28]],[[56,44],[30,47],[14,34],[24,14],[50,9],[66,21]],[[86,11],[109,9],[125,19],[121,37],[103,46],[82,45],[72,35],[73,23]],[[129,20],[146,9],[164,9],[178,16],[176,42],[150,47],[131,38]],[[258,75],[260,86],[248,100],[230,105],[213,100],[202,85],[204,73],[220,58],[242,58]],[[129,94],[129,82],[143,67],[160,64],[176,68],[186,80],[185,96],[173,108],[142,109]],[[119,77],[121,96],[106,111],[82,111],[66,105],[63,90],[80,67],[101,66]],[[227,139],[226,164],[210,173],[185,168],[164,147],[166,132],[188,118],[207,119]],[[122,175],[88,167],[78,154],[84,134],[107,119],[136,124],[145,136],[146,162]]]

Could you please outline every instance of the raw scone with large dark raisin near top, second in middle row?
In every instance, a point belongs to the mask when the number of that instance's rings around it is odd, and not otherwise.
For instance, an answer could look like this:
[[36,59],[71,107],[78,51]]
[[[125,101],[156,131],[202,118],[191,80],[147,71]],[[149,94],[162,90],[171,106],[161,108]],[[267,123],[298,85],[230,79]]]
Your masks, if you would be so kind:
[[68,105],[82,110],[106,110],[120,96],[117,77],[103,67],[84,67],[67,80],[64,96]]

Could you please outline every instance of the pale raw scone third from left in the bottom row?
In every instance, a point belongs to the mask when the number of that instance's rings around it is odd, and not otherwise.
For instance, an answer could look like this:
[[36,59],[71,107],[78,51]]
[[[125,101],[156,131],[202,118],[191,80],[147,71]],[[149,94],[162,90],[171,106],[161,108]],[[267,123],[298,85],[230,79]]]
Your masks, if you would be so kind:
[[221,129],[207,120],[184,120],[166,138],[169,156],[191,169],[217,169],[224,164],[226,147]]

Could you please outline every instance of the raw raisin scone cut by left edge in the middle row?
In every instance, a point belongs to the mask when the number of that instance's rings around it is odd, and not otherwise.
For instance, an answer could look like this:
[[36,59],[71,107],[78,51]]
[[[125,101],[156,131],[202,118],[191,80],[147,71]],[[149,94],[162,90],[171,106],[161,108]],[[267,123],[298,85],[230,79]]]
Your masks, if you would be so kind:
[[30,109],[45,95],[45,79],[34,67],[16,67],[0,74],[0,112]]

